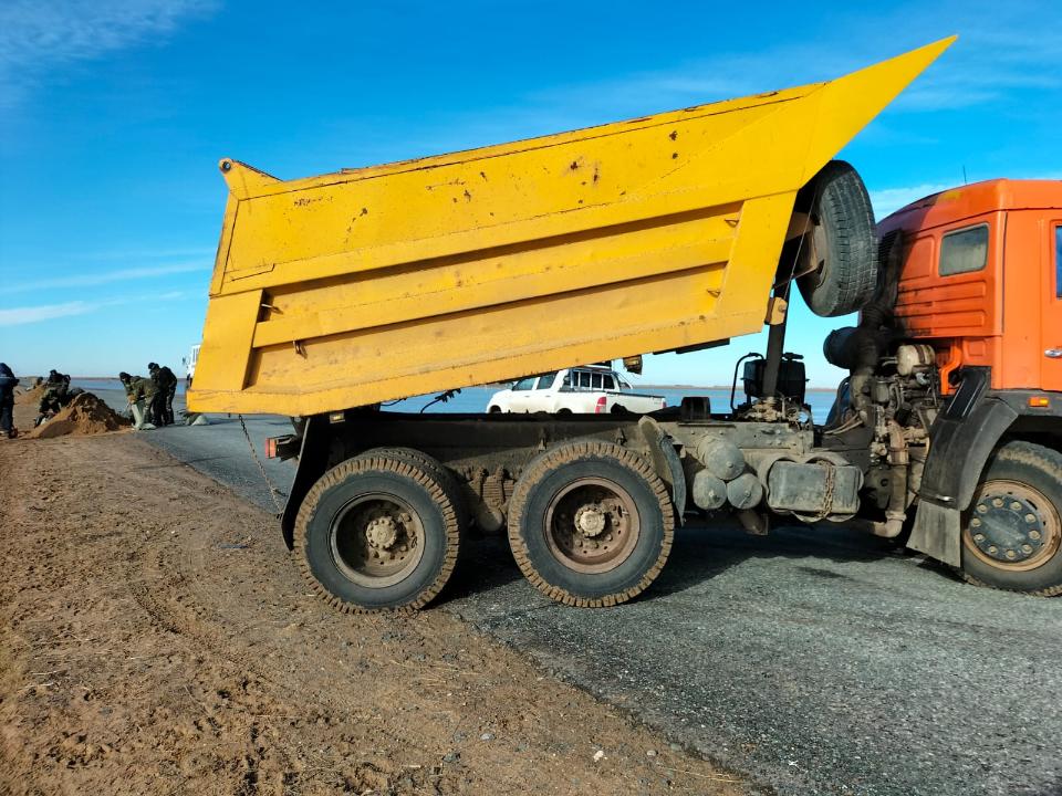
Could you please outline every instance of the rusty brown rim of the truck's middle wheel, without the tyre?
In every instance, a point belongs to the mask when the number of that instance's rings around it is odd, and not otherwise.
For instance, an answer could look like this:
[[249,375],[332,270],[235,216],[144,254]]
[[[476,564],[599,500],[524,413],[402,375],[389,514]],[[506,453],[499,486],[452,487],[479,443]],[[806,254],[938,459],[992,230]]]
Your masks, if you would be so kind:
[[623,564],[638,542],[634,499],[614,481],[583,478],[565,484],[545,512],[545,542],[561,564],[603,573]]

